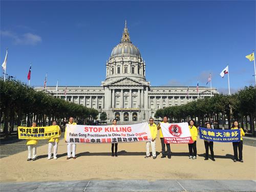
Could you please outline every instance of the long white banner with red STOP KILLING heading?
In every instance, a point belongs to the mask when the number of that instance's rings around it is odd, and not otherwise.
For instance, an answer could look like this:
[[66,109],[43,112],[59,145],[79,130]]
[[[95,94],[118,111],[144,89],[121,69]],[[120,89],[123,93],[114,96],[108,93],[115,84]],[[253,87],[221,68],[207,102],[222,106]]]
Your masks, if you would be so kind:
[[151,140],[147,122],[99,126],[67,124],[65,135],[68,143],[119,143]]

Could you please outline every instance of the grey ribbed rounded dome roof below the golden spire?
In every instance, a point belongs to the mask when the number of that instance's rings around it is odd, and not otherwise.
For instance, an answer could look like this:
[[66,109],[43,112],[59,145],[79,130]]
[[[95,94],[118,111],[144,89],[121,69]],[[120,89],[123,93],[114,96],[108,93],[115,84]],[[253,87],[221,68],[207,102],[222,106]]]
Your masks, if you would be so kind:
[[131,42],[121,42],[111,52],[111,57],[121,55],[121,54],[129,54],[136,57],[140,57],[139,49],[134,46]]

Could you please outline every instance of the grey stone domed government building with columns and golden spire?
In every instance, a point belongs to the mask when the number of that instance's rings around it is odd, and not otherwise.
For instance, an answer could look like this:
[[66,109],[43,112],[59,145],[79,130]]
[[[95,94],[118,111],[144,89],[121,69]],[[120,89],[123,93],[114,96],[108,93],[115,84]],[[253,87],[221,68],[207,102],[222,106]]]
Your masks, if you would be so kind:
[[[153,87],[146,80],[145,69],[145,61],[132,44],[125,22],[121,42],[113,48],[106,62],[106,78],[101,86],[58,87],[57,97],[97,109],[99,115],[105,112],[108,122],[116,118],[119,123],[138,123],[154,118],[158,109],[217,93],[215,88],[210,91],[207,87],[200,87],[199,93],[197,87]],[[55,86],[47,87],[47,92],[56,96]]]

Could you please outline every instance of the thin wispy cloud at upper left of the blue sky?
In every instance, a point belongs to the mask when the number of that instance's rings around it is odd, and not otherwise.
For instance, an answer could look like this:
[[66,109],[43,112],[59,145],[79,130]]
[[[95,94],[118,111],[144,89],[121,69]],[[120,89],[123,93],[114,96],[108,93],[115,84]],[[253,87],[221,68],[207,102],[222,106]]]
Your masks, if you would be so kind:
[[13,43],[16,45],[37,45],[42,41],[42,38],[39,35],[32,33],[25,33],[22,35],[15,34],[11,31],[0,31],[1,36],[9,37],[13,40]]

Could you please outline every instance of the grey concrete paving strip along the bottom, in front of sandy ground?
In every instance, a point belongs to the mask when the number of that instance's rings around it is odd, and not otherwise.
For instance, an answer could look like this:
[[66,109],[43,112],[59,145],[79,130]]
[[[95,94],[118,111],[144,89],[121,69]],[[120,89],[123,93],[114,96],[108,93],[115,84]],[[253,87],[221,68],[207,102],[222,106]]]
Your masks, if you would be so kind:
[[0,183],[0,191],[256,191],[252,180],[92,180]]

